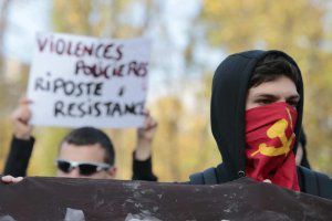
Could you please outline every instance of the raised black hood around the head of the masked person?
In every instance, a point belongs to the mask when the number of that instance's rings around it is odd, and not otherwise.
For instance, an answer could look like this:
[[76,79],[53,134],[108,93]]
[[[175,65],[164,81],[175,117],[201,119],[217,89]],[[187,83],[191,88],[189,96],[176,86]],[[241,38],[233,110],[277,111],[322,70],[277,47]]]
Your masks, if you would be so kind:
[[[229,55],[215,72],[210,107],[211,130],[222,157],[224,171],[220,172],[227,172],[228,180],[245,176],[247,92],[257,63],[270,53],[281,54],[298,67],[294,60],[284,52],[255,50]],[[294,151],[301,130],[303,113],[303,82],[300,69],[299,73],[297,90],[301,98],[297,106],[298,122]],[[225,175],[222,176],[225,177]]]

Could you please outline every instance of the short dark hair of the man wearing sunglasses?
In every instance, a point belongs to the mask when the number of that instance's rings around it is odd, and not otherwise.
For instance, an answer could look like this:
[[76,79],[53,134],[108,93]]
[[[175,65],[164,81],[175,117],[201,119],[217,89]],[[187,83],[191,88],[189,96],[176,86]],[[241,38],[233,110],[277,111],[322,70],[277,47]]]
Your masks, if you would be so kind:
[[113,144],[108,136],[100,129],[94,127],[81,127],[73,129],[63,138],[61,145],[64,143],[76,146],[100,144],[102,148],[105,149],[104,161],[106,164],[114,165],[115,151]]

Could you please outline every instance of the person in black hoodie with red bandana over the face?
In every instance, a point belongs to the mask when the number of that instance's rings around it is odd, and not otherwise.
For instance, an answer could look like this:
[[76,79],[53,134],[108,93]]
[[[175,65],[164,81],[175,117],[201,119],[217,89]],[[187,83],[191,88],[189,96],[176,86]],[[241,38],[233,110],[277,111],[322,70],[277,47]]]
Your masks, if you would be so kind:
[[222,164],[191,175],[189,183],[224,183],[246,176],[332,199],[328,176],[295,166],[302,114],[303,83],[291,56],[261,50],[228,56],[215,72],[210,103]]

